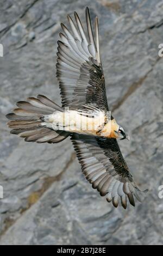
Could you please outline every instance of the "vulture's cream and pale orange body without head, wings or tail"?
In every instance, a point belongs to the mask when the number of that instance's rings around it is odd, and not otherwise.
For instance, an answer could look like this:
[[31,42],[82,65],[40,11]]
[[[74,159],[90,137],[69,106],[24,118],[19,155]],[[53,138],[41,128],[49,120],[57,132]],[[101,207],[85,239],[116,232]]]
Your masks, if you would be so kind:
[[114,131],[120,127],[115,119],[106,120],[104,111],[83,112],[67,109],[45,115],[41,125],[54,131],[64,130],[105,138],[117,138],[118,134]]

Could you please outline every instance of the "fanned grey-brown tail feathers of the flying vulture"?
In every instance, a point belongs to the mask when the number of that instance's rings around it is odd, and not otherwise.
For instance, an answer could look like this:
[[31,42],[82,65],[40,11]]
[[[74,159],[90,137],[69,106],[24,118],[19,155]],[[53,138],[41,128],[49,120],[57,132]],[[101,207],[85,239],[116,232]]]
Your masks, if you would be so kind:
[[54,131],[42,126],[42,117],[53,114],[55,111],[63,112],[63,109],[43,95],[29,97],[27,101],[18,101],[18,108],[13,113],[7,114],[10,119],[8,126],[10,132],[25,138],[27,142],[58,143],[67,138],[70,133],[66,131]]

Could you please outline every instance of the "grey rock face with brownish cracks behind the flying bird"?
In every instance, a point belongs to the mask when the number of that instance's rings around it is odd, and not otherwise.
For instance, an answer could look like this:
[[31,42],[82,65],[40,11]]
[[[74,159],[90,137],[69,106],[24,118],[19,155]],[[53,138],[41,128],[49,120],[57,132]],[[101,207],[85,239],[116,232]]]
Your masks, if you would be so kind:
[[[44,94],[60,104],[55,62],[60,22],[76,10],[98,15],[108,101],[130,134],[120,142],[135,180],[149,192],[142,204],[114,209],[81,173],[69,139],[26,143],[10,135],[14,103]],[[163,243],[163,1],[1,1],[1,245],[158,245]]]

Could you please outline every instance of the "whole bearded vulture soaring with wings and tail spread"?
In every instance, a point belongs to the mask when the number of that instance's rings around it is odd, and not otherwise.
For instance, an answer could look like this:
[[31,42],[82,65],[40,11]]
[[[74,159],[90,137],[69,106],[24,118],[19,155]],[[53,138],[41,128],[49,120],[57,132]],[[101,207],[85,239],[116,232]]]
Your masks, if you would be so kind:
[[57,78],[62,106],[46,96],[18,101],[7,115],[10,132],[27,142],[58,143],[71,138],[86,179],[101,196],[117,207],[135,206],[142,192],[123,159],[117,139],[129,139],[109,112],[99,52],[98,18],[93,36],[89,9],[86,32],[78,14],[67,16],[71,29],[61,23]]

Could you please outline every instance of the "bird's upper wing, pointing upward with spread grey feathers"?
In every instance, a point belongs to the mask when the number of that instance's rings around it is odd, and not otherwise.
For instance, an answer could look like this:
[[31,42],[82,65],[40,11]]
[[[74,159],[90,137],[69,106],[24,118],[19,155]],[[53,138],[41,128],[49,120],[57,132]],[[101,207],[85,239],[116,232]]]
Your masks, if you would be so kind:
[[95,20],[93,37],[89,9],[86,8],[87,34],[78,14],[74,13],[76,25],[67,16],[71,32],[61,23],[64,34],[58,41],[57,77],[61,90],[62,107],[82,108],[83,105],[108,111],[105,80],[99,53],[98,19]]

